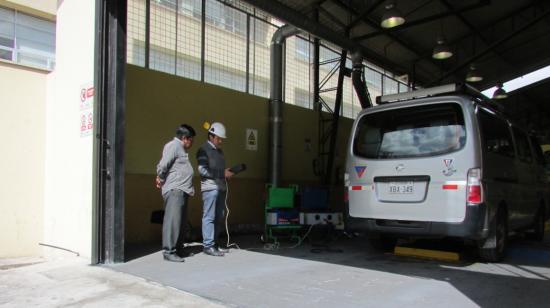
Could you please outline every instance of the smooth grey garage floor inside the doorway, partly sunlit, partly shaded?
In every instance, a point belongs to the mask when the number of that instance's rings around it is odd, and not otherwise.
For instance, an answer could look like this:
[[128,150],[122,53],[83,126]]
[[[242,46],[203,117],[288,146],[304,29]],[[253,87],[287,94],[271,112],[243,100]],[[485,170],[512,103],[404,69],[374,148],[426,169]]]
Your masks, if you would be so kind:
[[266,251],[256,239],[236,240],[248,249],[183,264],[156,252],[111,268],[237,307],[550,307],[548,240],[512,240],[499,264],[477,262],[460,245],[450,246],[465,261],[446,263],[382,253],[360,237],[313,252],[308,243]]

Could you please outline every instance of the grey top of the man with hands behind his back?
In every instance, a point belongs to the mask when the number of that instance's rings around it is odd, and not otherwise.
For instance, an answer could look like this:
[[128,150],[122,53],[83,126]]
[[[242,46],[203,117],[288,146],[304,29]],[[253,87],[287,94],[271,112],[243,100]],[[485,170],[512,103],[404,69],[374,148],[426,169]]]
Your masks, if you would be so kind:
[[193,166],[189,154],[183,148],[181,140],[174,138],[162,150],[162,158],[157,165],[157,175],[162,185],[162,195],[172,189],[179,189],[188,195],[194,195]]

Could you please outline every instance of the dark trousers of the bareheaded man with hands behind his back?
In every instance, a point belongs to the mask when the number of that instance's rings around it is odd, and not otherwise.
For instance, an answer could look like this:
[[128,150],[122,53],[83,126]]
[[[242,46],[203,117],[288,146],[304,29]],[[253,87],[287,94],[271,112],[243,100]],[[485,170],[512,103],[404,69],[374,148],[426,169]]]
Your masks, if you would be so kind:
[[178,247],[183,247],[189,195],[179,189],[172,189],[163,198],[162,249],[164,254],[173,254]]

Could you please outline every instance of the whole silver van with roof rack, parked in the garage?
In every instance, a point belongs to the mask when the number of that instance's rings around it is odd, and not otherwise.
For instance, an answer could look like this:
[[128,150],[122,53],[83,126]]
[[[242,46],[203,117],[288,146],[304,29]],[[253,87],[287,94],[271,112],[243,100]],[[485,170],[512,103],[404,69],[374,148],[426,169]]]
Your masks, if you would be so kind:
[[462,84],[382,96],[352,128],[346,227],[391,245],[458,237],[502,259],[511,230],[542,240],[549,211],[534,137]]

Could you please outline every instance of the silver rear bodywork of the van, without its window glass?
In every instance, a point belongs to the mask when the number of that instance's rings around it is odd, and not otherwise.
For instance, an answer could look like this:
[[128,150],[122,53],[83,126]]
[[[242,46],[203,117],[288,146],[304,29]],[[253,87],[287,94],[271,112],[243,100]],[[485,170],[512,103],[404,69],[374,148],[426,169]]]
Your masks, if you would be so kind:
[[[454,152],[403,159],[355,156],[357,123],[376,112],[432,104],[461,106],[466,130],[464,146]],[[354,218],[457,223],[465,218],[468,170],[481,167],[479,132],[472,123],[471,101],[457,96],[392,103],[361,112],[348,147],[349,215]],[[404,190],[405,193],[395,193]]]

